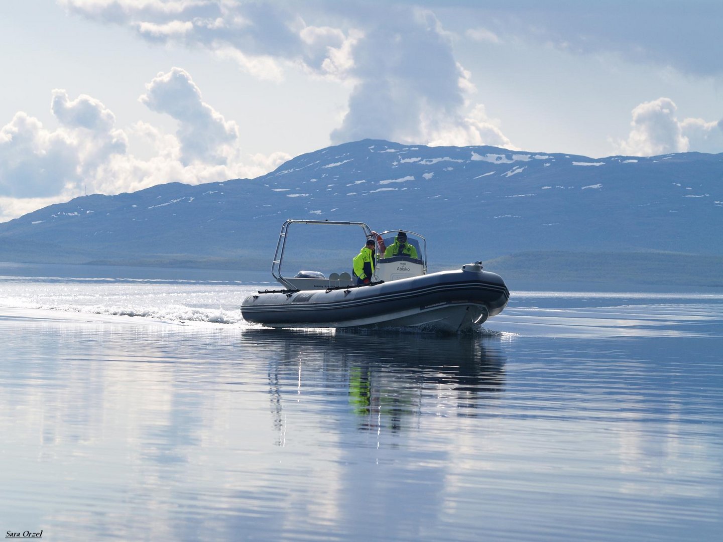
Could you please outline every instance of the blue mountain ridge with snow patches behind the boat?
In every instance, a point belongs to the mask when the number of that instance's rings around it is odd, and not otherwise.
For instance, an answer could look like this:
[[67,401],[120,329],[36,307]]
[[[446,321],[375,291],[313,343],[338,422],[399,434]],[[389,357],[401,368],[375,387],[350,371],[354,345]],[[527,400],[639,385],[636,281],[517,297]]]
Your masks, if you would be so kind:
[[0,259],[264,269],[286,218],[407,228],[439,263],[529,251],[719,257],[723,154],[592,159],[366,139],[254,179],[52,205],[0,224]]

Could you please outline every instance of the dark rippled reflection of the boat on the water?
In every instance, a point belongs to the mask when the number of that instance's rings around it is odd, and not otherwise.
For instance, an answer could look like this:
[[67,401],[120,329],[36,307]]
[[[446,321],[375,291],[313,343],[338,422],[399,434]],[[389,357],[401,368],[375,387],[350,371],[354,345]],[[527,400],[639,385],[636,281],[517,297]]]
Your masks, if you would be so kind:
[[247,330],[270,355],[274,424],[283,399],[344,401],[359,429],[398,431],[432,411],[479,416],[504,390],[505,356],[494,337]]

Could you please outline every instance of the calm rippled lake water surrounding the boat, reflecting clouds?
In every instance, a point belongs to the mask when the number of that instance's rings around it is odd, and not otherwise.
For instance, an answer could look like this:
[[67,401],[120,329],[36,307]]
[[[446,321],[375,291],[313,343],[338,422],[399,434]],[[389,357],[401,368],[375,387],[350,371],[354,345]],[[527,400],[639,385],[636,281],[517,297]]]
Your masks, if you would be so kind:
[[442,337],[250,325],[233,274],[0,275],[0,532],[721,540],[721,293],[510,288]]

